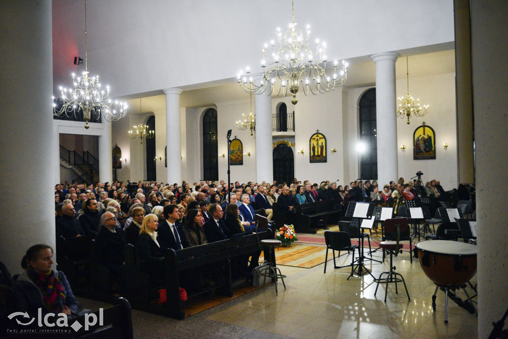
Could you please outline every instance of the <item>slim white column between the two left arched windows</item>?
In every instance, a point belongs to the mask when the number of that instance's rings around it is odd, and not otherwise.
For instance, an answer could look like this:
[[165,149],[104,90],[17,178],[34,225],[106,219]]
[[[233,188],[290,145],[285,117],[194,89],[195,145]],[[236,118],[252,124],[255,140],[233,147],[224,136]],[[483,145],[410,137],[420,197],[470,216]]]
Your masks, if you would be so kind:
[[163,89],[166,94],[166,142],[168,146],[168,182],[182,182],[180,140],[180,88]]

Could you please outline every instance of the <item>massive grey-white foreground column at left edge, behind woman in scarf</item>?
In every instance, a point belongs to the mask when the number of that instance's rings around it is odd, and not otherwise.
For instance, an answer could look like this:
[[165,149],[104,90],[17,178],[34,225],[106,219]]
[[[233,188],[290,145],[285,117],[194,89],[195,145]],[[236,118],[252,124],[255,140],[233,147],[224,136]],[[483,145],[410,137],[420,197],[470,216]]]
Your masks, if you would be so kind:
[[[0,1],[0,22],[0,258],[15,274],[29,246],[55,248],[51,1]],[[13,183],[39,198],[29,213],[8,198]]]

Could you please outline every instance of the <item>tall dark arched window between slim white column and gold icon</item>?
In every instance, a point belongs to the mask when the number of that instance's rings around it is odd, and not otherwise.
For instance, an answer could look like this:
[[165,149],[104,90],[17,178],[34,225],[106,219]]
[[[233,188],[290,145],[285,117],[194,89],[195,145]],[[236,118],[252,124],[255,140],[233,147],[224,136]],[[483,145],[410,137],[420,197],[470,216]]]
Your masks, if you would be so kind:
[[209,108],[203,115],[203,179],[218,180],[217,111]]

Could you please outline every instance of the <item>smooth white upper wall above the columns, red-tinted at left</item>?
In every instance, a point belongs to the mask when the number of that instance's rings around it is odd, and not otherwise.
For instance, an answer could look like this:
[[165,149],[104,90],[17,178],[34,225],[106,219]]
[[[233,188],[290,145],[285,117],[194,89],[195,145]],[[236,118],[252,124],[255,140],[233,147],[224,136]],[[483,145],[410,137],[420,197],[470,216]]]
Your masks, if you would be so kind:
[[[267,15],[276,13],[276,15]],[[330,20],[320,20],[323,13]],[[411,24],[400,18],[407,13]],[[291,22],[289,1],[114,0],[87,3],[88,70],[111,84],[113,96],[236,78],[261,71],[261,49],[277,26]],[[361,18],[361,19],[359,19]],[[452,0],[295,1],[297,28],[328,43],[327,55],[353,58],[454,41]],[[387,24],[384,24],[387,23]],[[248,30],[245,27],[256,27]],[[54,93],[70,83],[74,56],[84,56],[82,2],[53,1]],[[354,29],[352,29],[354,27]],[[248,39],[246,39],[248,35]],[[135,79],[136,81],[133,81]]]

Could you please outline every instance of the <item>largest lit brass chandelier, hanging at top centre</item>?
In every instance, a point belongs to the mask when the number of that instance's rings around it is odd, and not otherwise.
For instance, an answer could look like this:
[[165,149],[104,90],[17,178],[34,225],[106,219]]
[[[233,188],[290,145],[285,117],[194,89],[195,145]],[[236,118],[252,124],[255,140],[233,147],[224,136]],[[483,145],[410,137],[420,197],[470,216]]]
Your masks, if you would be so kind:
[[289,24],[290,29],[282,34],[280,28],[277,28],[280,47],[275,51],[275,42],[272,40],[270,47],[265,44],[263,48],[263,76],[259,83],[253,79],[248,67],[245,74],[243,71],[238,74],[237,79],[246,93],[267,96],[273,93],[284,97],[292,94],[291,102],[296,105],[296,94],[300,86],[305,95],[341,88],[346,81],[348,65],[344,61],[340,65],[334,61],[333,73],[326,73],[326,43],[316,39],[314,46],[311,46],[309,25],[305,36],[300,29],[296,29],[294,2],[292,4],[293,22]]

